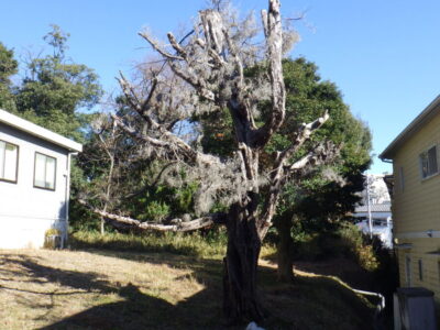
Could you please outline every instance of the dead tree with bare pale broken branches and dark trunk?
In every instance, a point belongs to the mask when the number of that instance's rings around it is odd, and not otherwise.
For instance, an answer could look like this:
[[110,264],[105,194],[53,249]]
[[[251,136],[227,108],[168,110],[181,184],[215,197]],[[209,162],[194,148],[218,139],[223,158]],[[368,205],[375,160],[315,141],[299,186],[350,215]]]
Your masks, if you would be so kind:
[[[298,156],[298,151],[329,118],[300,125],[292,144],[272,155],[272,167],[261,166],[261,155],[285,118],[285,87],[282,58],[288,41],[282,28],[279,0],[270,0],[262,11],[263,34],[253,16],[239,22],[237,16],[219,10],[199,12],[194,32],[177,41],[168,33],[168,45],[146,32],[140,35],[163,58],[164,66],[185,85],[178,94],[153,69],[146,92],[140,92],[122,75],[119,79],[133,116],[113,116],[117,124],[133,140],[145,146],[155,157],[176,162],[200,183],[197,206],[206,215],[210,201],[226,199],[227,213],[216,213],[194,220],[191,224],[170,228],[142,223],[135,219],[96,210],[112,221],[145,229],[187,230],[226,223],[228,250],[224,257],[223,309],[230,320],[260,320],[263,317],[256,292],[256,270],[262,241],[272,226],[277,200],[284,184],[300,172],[333,157],[338,150],[331,144],[319,144]],[[264,35],[262,47],[255,40]],[[265,73],[249,77],[246,69],[261,65]],[[261,123],[258,107],[266,101],[271,111]],[[232,117],[237,151],[231,158],[205,154],[197,141],[188,141],[174,130],[176,121],[194,119],[208,111],[228,109]],[[174,120],[164,120],[164,111]],[[257,120],[258,119],[258,120]],[[262,198],[264,200],[262,200]],[[177,221],[178,222],[178,221]]]

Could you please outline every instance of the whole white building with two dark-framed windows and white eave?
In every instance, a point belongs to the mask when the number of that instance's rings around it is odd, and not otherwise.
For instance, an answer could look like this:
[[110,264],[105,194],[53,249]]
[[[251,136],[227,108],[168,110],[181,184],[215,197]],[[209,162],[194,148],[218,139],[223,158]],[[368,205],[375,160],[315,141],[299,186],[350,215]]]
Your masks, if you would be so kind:
[[82,145],[0,110],[0,249],[67,238],[70,156]]

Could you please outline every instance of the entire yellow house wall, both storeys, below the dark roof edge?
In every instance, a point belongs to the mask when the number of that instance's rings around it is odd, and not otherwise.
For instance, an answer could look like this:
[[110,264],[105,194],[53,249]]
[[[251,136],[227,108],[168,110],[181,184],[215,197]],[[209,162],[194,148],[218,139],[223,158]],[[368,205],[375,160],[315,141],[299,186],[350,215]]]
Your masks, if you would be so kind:
[[[422,286],[435,292],[440,300],[440,175],[422,178],[419,155],[437,145],[440,168],[440,116],[433,118],[397,151],[394,164],[395,191],[392,204],[394,234],[399,244],[410,244],[398,250],[400,285],[407,286],[406,260],[410,258],[411,286]],[[403,168],[404,182],[400,176]],[[428,234],[428,233],[431,234]],[[422,276],[419,272],[422,265]]]

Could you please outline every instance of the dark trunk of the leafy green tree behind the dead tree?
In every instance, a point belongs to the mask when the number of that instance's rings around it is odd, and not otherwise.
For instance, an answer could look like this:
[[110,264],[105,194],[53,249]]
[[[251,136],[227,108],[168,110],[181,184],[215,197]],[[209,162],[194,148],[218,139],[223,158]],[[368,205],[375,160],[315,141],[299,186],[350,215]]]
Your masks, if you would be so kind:
[[294,240],[290,235],[293,226],[292,215],[286,215],[282,219],[275,221],[275,227],[278,231],[278,246],[277,246],[277,275],[280,282],[294,280]]

